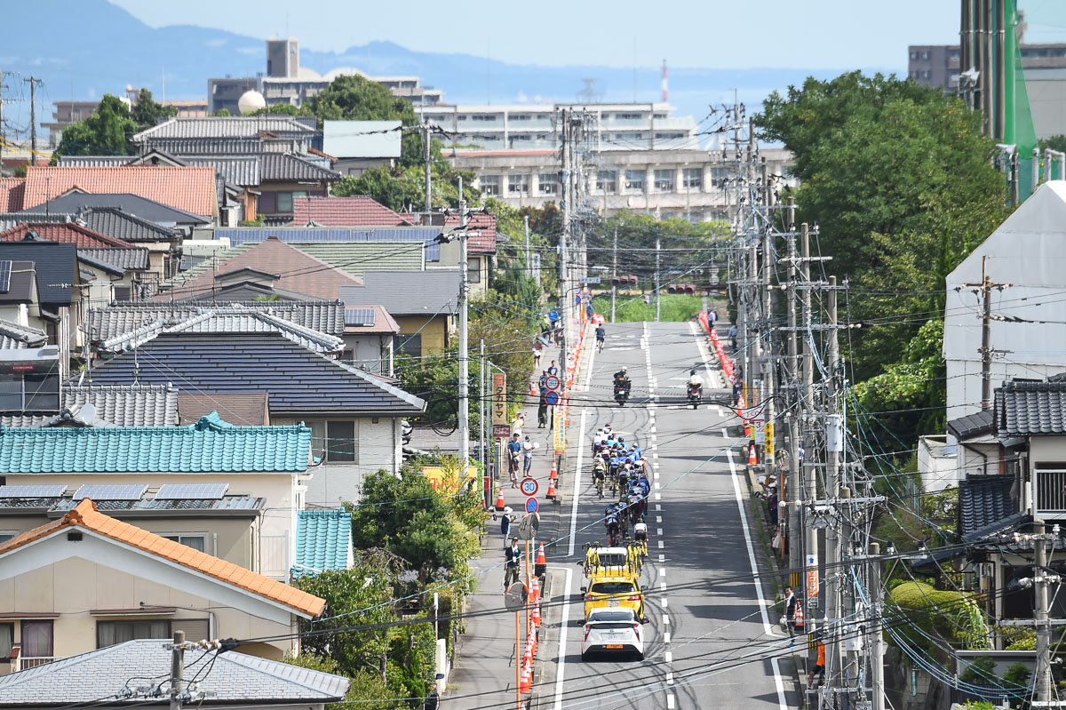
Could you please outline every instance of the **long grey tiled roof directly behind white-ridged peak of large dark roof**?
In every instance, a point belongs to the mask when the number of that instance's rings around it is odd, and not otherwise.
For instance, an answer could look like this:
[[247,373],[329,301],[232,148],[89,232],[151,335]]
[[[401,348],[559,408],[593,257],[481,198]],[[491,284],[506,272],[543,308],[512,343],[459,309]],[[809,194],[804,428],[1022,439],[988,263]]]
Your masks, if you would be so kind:
[[197,316],[213,308],[245,308],[272,313],[302,327],[341,335],[344,333],[344,304],[340,301],[247,301],[219,303],[114,303],[88,311],[90,337],[95,341],[135,330],[155,321],[168,325]]

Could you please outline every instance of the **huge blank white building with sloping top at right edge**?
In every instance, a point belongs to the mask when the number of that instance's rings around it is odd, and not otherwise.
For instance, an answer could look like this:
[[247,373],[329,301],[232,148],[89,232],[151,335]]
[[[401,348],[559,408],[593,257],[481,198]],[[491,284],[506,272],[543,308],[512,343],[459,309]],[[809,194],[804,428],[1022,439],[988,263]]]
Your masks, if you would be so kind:
[[991,387],[1066,372],[1066,181],[1052,180],[947,278],[943,357],[948,421],[981,409],[982,265],[991,293]]

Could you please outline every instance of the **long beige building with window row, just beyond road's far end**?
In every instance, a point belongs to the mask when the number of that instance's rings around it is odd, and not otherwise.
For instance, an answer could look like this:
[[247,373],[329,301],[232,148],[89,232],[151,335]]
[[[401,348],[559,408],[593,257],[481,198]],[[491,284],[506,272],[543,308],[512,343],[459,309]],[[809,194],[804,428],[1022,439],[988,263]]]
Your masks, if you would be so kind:
[[[792,157],[784,148],[762,148],[771,175],[793,183]],[[543,207],[560,199],[555,150],[456,150],[452,163],[478,175],[482,194],[512,207]],[[729,166],[717,150],[615,149],[585,162],[585,194],[601,213],[621,210],[692,222],[725,219]]]

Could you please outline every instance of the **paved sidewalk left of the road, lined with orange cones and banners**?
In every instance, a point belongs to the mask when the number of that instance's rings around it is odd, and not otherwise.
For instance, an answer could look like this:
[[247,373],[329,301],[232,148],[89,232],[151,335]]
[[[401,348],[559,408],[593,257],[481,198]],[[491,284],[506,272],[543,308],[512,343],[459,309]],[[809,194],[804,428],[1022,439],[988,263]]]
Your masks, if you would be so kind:
[[[585,352],[582,353],[582,361],[586,361]],[[578,368],[581,370],[580,366]],[[561,509],[559,502],[553,502],[547,498],[549,474],[553,458],[552,433],[546,426],[538,429],[536,423],[538,400],[527,394],[526,403],[521,413],[526,418],[526,426],[522,429],[522,440],[526,435],[532,441],[539,443],[539,448],[533,455],[533,468],[530,478],[535,479],[538,490],[535,496],[539,504],[540,528],[537,533],[535,546],[531,546],[530,568],[536,560],[536,553],[540,543],[549,544],[559,536]],[[575,431],[571,413],[570,432]],[[559,471],[556,482],[556,501],[562,500],[564,490],[564,477],[569,478],[564,470]],[[519,475],[521,479],[521,475]],[[572,485],[572,483],[571,483]],[[504,503],[512,509],[513,515],[520,520],[526,513],[527,496],[518,488],[511,486],[511,481],[504,470],[500,480],[500,489],[503,491]],[[494,494],[495,503],[495,494]],[[515,707],[516,700],[516,659],[515,659],[515,614],[504,611],[503,600],[503,547],[504,537],[500,532],[500,516],[502,514],[490,511],[490,519],[487,523],[487,533],[481,540],[481,556],[472,560],[471,570],[478,574],[474,592],[467,597],[467,608],[464,615],[471,618],[466,623],[466,633],[459,636],[456,652],[456,665],[448,679],[450,689],[442,696],[442,700],[448,701],[449,696],[455,700],[462,700],[462,706],[456,707]],[[517,531],[517,522],[512,525],[512,535]],[[523,546],[524,543],[519,543]],[[549,570],[545,580],[545,590],[542,591],[545,601],[551,598],[552,590],[559,590],[561,583],[559,576],[562,572],[552,569],[552,558],[558,554],[553,549],[547,550]],[[483,572],[484,574],[479,574]],[[521,569],[521,578],[524,581],[524,566]],[[544,614],[540,626],[540,636],[537,647],[537,657],[534,663],[534,695],[538,688],[543,687],[544,659],[550,657],[555,651],[558,644],[559,611],[550,607],[542,607]],[[524,645],[526,620],[524,614],[520,614],[520,643]],[[519,655],[522,646],[519,646]],[[518,662],[520,664],[521,658]],[[523,694],[526,700],[530,696]]]

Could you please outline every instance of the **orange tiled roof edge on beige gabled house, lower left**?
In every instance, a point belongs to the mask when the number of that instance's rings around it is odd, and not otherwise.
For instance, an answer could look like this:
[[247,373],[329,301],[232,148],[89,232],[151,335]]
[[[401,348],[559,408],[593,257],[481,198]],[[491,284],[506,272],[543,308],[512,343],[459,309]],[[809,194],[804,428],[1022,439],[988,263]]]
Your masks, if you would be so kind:
[[227,584],[239,586],[272,601],[285,604],[308,616],[318,616],[325,609],[326,601],[294,586],[263,577],[259,572],[245,569],[231,562],[211,556],[206,552],[160,537],[128,522],[116,520],[96,510],[96,503],[85,498],[77,507],[68,511],[59,520],[27,531],[6,543],[0,544],[0,554],[5,554],[33,540],[51,535],[63,528],[84,528],[116,542],[158,555],[183,567],[213,577]]

